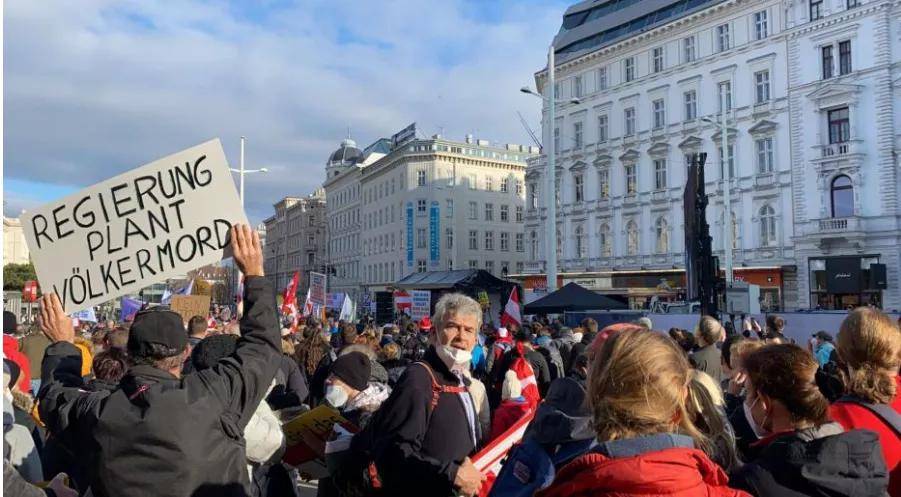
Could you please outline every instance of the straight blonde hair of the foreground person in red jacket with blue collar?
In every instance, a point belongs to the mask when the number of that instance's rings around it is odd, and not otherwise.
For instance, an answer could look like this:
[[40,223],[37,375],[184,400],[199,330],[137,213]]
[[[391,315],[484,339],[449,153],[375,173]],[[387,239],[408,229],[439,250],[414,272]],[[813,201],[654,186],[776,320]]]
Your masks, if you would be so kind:
[[668,337],[646,329],[614,333],[588,377],[588,404],[599,441],[680,431],[709,446],[686,406],[691,367]]

